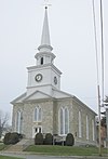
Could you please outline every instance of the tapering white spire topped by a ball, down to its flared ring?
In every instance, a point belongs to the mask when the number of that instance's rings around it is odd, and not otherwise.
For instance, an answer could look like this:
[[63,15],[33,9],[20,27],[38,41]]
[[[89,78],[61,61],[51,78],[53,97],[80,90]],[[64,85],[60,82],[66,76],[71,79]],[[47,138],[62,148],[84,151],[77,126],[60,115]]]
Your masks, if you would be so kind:
[[48,6],[45,6],[45,14],[44,14],[44,22],[43,22],[43,29],[41,36],[41,44],[38,48],[40,52],[51,52],[53,48],[51,47],[50,41],[50,31],[49,31],[49,21],[48,21]]

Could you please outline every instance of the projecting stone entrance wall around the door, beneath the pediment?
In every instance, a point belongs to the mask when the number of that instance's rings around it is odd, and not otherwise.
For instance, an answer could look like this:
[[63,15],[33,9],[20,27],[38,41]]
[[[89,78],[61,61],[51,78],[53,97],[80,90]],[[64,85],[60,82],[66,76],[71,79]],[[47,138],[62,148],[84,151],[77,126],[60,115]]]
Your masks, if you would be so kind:
[[[33,111],[37,106],[42,109],[42,120],[33,120]],[[24,106],[24,134],[32,137],[33,128],[41,127],[42,133],[53,133],[53,102],[36,102]]]

